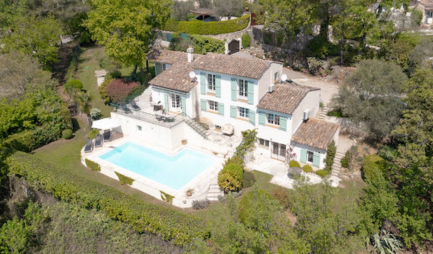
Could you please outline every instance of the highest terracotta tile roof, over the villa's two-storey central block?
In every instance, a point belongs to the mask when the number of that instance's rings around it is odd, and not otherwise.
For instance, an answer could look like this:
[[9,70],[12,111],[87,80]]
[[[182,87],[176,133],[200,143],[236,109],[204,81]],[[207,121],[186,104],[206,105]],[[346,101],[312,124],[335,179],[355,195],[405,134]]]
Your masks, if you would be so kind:
[[192,63],[194,69],[224,73],[233,76],[259,79],[271,66],[272,61],[259,58],[246,58],[242,56],[207,53],[199,55]]

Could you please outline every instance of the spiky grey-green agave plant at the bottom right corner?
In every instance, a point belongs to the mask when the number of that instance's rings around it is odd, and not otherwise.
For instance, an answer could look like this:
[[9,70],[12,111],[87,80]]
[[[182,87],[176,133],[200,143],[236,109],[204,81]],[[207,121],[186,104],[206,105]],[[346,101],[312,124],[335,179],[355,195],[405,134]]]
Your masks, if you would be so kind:
[[373,251],[378,254],[397,254],[403,247],[403,244],[385,229],[370,236],[370,242],[373,245]]

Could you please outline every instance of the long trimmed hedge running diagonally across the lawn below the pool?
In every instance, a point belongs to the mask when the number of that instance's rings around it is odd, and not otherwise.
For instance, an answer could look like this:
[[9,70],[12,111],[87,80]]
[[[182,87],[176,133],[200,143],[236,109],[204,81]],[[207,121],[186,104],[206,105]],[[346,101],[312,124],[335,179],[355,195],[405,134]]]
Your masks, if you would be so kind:
[[209,225],[200,218],[133,198],[34,155],[16,152],[6,163],[10,174],[24,176],[54,198],[104,211],[110,218],[130,224],[136,232],[158,234],[180,246],[187,246],[194,238],[210,237]]

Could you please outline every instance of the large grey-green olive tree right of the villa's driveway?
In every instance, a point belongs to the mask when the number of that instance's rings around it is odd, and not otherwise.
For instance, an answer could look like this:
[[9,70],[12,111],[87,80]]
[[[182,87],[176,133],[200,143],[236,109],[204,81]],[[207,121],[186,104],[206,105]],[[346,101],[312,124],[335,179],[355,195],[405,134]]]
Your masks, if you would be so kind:
[[363,126],[369,139],[380,141],[398,124],[404,109],[399,96],[406,80],[395,63],[362,60],[333,98],[333,107]]

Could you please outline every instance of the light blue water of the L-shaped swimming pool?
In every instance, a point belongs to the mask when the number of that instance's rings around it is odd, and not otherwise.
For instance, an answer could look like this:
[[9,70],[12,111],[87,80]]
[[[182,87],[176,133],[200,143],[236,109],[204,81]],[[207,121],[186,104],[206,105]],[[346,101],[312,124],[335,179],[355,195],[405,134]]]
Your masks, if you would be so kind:
[[214,156],[189,148],[171,156],[132,142],[113,148],[99,158],[175,190],[216,162]]

